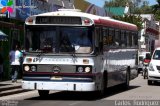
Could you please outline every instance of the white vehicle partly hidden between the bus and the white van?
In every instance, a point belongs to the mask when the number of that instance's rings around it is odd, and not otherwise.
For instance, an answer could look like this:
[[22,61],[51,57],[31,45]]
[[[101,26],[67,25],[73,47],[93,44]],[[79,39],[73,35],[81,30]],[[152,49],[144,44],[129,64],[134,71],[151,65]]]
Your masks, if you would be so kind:
[[139,54],[139,62],[138,62],[138,73],[143,73],[144,69],[144,59],[147,55],[151,55],[150,52],[141,52]]

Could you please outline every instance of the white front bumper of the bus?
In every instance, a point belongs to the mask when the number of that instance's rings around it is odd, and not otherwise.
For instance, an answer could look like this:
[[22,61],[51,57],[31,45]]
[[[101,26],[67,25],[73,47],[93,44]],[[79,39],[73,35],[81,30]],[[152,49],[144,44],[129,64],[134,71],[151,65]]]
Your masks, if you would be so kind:
[[99,87],[95,82],[51,82],[51,81],[22,81],[23,89],[58,90],[58,91],[95,91]]

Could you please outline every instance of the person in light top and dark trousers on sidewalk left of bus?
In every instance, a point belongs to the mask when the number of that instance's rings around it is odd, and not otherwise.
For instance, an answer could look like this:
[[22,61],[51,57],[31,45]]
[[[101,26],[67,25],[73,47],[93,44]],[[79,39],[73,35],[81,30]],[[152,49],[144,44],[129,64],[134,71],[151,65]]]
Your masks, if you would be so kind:
[[16,45],[14,49],[10,51],[9,57],[12,82],[17,82],[17,76],[20,70],[20,58],[22,57],[22,53],[20,52],[18,45]]

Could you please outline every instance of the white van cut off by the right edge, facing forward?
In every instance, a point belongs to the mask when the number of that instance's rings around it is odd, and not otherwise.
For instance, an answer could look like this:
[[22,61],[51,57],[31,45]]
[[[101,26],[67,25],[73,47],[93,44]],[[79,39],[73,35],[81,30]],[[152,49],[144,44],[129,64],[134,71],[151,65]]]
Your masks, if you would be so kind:
[[160,47],[154,50],[148,68],[148,85],[152,85],[155,81],[160,81]]

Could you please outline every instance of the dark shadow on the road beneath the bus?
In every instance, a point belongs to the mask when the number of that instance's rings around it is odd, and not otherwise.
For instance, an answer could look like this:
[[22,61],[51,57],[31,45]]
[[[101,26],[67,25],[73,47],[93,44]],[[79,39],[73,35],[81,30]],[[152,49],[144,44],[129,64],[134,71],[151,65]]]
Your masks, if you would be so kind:
[[[103,96],[98,95],[97,92],[57,92],[49,94],[47,97],[41,98],[41,97],[35,97],[30,98],[28,100],[86,100],[86,101],[92,101],[92,100],[100,100],[103,98],[110,97],[112,95],[127,92],[129,90],[138,88],[140,86],[130,86],[128,90],[124,90],[120,85],[108,88]],[[38,93],[38,92],[37,92]]]

